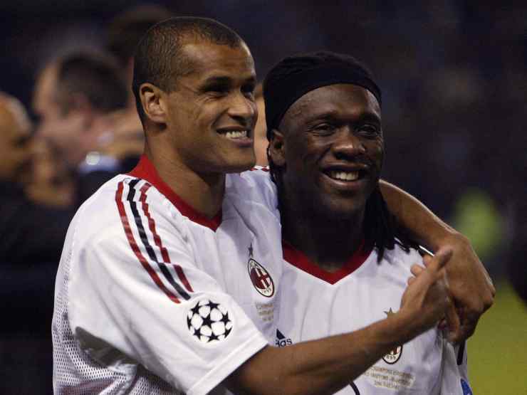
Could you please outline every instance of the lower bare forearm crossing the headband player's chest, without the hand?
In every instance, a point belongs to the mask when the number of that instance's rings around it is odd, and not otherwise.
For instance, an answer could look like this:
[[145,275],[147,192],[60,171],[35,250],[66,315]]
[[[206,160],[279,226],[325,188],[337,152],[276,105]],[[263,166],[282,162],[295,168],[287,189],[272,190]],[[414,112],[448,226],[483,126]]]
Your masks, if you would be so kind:
[[397,313],[362,330],[292,346],[266,347],[229,378],[236,394],[333,394],[412,339]]

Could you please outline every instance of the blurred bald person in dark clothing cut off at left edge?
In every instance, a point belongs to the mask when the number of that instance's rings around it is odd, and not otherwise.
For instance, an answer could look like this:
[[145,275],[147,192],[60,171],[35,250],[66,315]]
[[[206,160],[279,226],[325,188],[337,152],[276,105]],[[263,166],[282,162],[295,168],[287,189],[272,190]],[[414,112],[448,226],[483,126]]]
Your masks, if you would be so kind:
[[26,110],[0,93],[0,394],[49,393],[53,278],[73,215],[26,194],[31,148]]

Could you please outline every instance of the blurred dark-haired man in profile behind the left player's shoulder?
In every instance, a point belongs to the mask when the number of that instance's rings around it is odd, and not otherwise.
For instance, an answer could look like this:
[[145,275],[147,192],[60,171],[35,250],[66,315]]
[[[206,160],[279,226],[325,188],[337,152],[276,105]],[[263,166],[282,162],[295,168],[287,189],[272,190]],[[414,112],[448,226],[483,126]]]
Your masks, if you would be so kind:
[[51,61],[38,75],[36,135],[47,140],[75,179],[75,206],[127,170],[128,152],[137,151],[139,144],[118,125],[126,105],[125,81],[105,53],[72,53]]

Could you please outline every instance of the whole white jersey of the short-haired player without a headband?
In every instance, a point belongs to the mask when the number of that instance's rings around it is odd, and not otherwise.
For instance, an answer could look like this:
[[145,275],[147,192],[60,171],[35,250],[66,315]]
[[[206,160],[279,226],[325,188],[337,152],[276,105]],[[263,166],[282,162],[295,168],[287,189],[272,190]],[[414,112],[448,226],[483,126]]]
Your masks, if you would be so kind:
[[[53,314],[56,394],[207,394],[276,335],[273,194],[227,176],[204,218],[142,157],[71,222]],[[278,221],[273,218],[273,223]]]

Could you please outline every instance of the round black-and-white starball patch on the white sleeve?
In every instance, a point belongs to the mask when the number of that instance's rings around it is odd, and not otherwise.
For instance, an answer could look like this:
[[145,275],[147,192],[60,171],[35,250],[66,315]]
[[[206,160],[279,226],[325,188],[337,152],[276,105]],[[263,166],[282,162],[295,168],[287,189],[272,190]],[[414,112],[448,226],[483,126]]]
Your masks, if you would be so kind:
[[233,322],[224,306],[209,299],[202,299],[189,310],[187,327],[200,342],[211,343],[229,336]]

